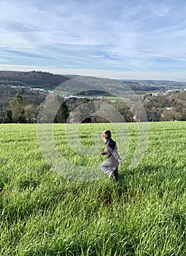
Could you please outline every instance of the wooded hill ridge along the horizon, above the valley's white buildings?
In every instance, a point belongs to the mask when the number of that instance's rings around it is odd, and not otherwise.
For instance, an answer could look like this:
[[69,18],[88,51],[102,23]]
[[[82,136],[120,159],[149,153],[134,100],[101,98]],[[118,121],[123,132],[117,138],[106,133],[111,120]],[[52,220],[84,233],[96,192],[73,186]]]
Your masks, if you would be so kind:
[[80,93],[80,91],[101,90],[135,91],[136,94],[147,91],[163,91],[168,89],[183,89],[185,82],[168,80],[112,80],[107,78],[94,78],[76,75],[57,75],[50,72],[30,71],[0,71],[0,85],[29,86],[44,90],[53,90],[60,86],[66,94]]

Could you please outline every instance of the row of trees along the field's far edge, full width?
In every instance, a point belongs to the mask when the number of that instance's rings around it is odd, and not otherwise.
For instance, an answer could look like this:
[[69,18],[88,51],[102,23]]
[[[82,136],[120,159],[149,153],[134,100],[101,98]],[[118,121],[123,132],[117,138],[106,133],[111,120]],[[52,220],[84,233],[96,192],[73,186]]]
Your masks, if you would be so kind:
[[[130,104],[125,104],[120,100],[111,101],[109,97],[101,97],[101,99],[69,97],[64,99],[59,95],[53,94],[48,98],[47,103],[39,100],[39,104],[37,104],[38,100],[32,100],[33,102],[28,101],[23,95],[17,93],[9,101],[7,107],[1,108],[0,122],[36,123],[39,111],[43,108],[46,111],[45,115],[42,116],[42,120],[39,120],[42,122],[186,121],[186,91],[154,97],[144,96],[141,105],[143,105],[147,113],[147,119],[144,119],[140,113],[140,106],[136,105],[136,110],[132,111]],[[53,116],[54,105],[58,106],[55,116]]]

